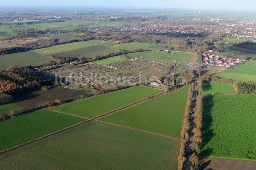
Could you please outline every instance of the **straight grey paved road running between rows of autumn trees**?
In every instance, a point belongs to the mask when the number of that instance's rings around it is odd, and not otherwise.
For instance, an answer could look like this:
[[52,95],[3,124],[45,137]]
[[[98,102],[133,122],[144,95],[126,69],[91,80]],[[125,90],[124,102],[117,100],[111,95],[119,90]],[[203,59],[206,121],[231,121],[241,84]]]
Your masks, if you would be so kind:
[[[196,107],[196,96],[197,96],[197,90],[196,90],[196,87],[197,87],[197,80],[198,80],[198,76],[197,76],[197,78],[196,78],[196,82],[195,82],[195,88],[194,88],[194,91],[193,91],[193,104],[192,104],[192,108],[195,108]],[[189,130],[189,141],[188,141],[188,154],[187,154],[187,163],[186,163],[186,170],[190,170],[191,169],[191,167],[190,167],[190,165],[191,165],[191,163],[190,163],[190,161],[189,161],[189,157],[190,157],[190,155],[193,153],[192,151],[191,151],[191,149],[190,149],[190,147],[189,147],[189,145],[190,145],[190,143],[191,143],[191,138],[192,138],[192,136],[193,136],[193,133],[192,133],[192,129],[193,129],[193,127],[194,127],[194,122],[193,122],[193,120],[194,120],[194,116],[195,116],[195,113],[194,113],[194,111],[192,112],[192,114],[191,114],[191,118],[190,118],[190,130]]]

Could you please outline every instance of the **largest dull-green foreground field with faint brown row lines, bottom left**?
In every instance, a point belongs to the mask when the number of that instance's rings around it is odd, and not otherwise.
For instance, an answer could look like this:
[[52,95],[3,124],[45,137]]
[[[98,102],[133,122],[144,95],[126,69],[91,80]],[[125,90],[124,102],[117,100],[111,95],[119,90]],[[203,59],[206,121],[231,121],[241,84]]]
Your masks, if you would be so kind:
[[171,169],[180,141],[88,122],[0,155],[3,169]]

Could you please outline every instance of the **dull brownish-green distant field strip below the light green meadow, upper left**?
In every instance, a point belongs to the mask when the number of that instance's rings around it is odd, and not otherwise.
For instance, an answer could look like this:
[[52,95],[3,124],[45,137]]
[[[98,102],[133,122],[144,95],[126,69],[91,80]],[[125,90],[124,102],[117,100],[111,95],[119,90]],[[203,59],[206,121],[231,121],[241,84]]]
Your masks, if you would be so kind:
[[80,48],[78,50],[72,50],[67,52],[51,54],[55,58],[61,57],[75,57],[85,56],[86,58],[92,58],[94,55],[102,55],[109,52],[116,52],[117,50],[106,45],[96,45],[92,47]]

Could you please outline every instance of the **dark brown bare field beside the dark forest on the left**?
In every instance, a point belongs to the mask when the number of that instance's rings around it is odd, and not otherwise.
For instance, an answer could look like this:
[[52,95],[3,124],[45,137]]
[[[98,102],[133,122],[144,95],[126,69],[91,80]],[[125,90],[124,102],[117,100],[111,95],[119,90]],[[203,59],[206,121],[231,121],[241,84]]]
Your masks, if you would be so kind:
[[23,108],[36,108],[39,104],[50,102],[54,103],[56,99],[65,100],[78,98],[79,95],[91,94],[83,90],[74,90],[63,87],[54,87],[49,90],[35,90],[26,94],[14,97],[14,102]]

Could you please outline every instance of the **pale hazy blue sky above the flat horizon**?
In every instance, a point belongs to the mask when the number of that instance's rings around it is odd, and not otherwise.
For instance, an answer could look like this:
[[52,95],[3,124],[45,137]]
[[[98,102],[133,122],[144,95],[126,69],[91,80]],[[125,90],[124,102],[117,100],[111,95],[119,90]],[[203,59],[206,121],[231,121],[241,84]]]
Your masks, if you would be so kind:
[[256,0],[3,0],[1,5],[255,10]]

